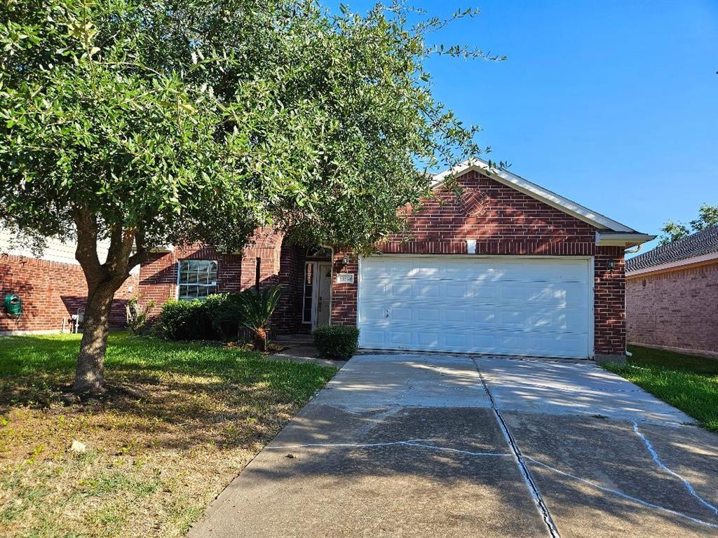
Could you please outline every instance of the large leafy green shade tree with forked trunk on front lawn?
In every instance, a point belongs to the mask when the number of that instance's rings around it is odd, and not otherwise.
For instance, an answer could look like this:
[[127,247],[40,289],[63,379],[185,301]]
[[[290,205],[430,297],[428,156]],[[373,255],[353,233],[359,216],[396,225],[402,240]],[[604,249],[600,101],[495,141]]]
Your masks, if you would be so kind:
[[[10,0],[0,7],[0,224],[77,242],[88,284],[74,389],[103,391],[114,293],[157,245],[246,245],[258,226],[366,248],[426,170],[475,154],[432,98],[452,19],[401,4]],[[411,19],[411,22],[409,22]],[[98,256],[106,242],[106,259]]]

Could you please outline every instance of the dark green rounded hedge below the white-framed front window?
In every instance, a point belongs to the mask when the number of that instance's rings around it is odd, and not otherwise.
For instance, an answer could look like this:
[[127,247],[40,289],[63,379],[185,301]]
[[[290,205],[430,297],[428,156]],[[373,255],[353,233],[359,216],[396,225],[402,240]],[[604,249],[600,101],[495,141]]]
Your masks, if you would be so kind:
[[205,301],[167,301],[157,327],[170,340],[229,340],[237,336],[237,293],[218,293]]

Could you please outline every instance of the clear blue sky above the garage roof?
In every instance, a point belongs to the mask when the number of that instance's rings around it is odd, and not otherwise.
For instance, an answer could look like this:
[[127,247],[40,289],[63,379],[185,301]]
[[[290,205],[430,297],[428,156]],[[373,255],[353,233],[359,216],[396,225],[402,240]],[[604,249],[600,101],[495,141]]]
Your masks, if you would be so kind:
[[482,126],[491,159],[641,232],[718,203],[718,0],[410,5],[479,7],[437,42],[508,56],[429,63],[434,95]]

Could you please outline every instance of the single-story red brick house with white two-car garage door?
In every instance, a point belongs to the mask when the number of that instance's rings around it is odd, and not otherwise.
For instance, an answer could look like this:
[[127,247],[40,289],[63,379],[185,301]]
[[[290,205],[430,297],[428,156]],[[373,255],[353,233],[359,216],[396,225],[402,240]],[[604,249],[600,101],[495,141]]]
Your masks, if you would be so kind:
[[[449,174],[459,198],[443,185]],[[277,333],[342,324],[358,326],[370,349],[623,356],[624,250],[653,236],[483,161],[434,180],[436,196],[409,209],[409,237],[388,238],[376,255],[258,230],[242,253],[154,253],[141,295],[162,303],[277,283]]]

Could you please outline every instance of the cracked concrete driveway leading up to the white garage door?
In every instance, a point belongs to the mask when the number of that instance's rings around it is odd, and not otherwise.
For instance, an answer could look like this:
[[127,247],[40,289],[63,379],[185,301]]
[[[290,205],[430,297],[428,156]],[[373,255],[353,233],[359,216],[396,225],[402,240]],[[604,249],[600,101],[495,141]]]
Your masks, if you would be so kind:
[[191,537],[717,537],[718,436],[585,362],[359,355]]

